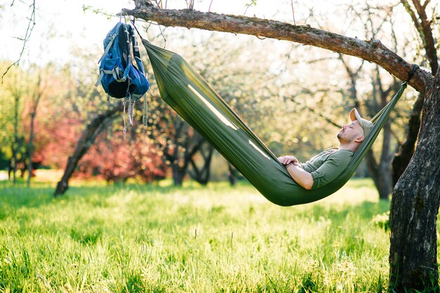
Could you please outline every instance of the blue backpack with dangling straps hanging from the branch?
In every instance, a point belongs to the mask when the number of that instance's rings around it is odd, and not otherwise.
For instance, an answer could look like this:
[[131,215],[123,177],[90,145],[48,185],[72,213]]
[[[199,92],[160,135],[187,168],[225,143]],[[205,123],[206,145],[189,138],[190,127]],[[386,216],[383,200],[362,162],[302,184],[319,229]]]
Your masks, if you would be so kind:
[[[104,53],[99,59],[99,79],[105,93],[113,98],[129,102],[129,120],[133,122],[134,102],[142,98],[150,88],[139,53],[138,42],[131,25],[118,22],[104,39]],[[136,60],[134,65],[132,56]],[[125,122],[124,122],[125,123]],[[146,125],[146,98],[143,124]]]

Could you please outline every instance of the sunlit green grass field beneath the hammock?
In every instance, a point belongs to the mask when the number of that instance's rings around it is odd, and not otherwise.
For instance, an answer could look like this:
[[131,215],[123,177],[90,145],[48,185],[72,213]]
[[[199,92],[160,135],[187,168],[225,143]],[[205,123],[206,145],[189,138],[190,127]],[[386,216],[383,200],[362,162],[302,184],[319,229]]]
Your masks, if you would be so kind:
[[389,202],[368,180],[296,207],[244,183],[52,192],[0,181],[0,292],[387,289]]

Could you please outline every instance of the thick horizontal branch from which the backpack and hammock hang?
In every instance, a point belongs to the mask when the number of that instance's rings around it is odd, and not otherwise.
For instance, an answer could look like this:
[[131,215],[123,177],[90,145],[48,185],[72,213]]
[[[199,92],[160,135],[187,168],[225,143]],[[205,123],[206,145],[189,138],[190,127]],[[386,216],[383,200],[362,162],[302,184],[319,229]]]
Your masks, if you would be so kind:
[[[136,0],[134,10],[123,9],[122,13],[133,15],[143,20],[153,20],[159,25],[167,27],[187,27],[218,32],[232,32],[236,34],[250,34],[257,37],[267,37],[285,41],[295,41],[304,45],[325,48],[330,51],[363,58],[380,65],[390,74],[405,81],[411,64],[390,51],[379,40],[345,37],[325,30],[318,30],[309,26],[291,25],[287,22],[264,20],[237,15],[218,13],[203,13],[200,11],[160,9],[153,6],[144,6]],[[432,74],[425,70],[418,70],[410,86],[420,92],[425,92],[433,80]]]

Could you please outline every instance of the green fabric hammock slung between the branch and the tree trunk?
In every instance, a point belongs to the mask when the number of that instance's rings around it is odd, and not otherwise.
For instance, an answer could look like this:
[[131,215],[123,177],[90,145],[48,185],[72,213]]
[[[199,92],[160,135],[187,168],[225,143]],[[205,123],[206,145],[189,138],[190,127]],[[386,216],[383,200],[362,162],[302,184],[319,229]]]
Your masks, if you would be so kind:
[[401,89],[375,116],[375,124],[354,153],[347,169],[334,181],[306,190],[292,180],[271,150],[238,117],[214,89],[181,56],[142,40],[150,58],[160,96],[240,171],[267,200],[280,206],[321,200],[351,177],[406,89]]

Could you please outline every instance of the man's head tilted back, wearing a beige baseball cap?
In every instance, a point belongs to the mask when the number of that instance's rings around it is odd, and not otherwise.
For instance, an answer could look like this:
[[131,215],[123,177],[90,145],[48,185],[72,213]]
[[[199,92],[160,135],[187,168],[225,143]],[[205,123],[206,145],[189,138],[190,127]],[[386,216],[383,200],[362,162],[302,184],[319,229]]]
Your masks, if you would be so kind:
[[357,149],[358,145],[370,134],[373,123],[363,119],[356,109],[351,110],[350,119],[350,124],[342,125],[337,138],[341,144],[355,145]]

